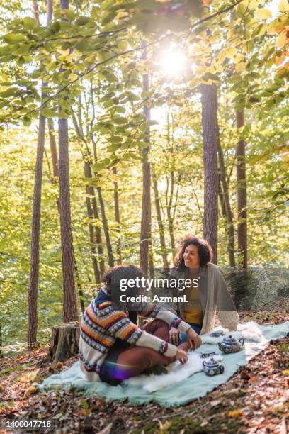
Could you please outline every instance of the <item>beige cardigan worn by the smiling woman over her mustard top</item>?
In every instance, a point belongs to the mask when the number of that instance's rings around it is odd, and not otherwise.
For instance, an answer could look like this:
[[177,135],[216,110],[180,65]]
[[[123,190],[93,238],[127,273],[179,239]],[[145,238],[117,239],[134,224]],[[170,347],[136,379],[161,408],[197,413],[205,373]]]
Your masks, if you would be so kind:
[[[215,324],[215,317],[219,318],[220,324],[229,330],[237,330],[239,324],[239,315],[234,306],[231,294],[227,289],[222,273],[217,265],[209,262],[203,268],[202,272],[207,272],[207,287],[205,294],[203,294],[203,327],[200,330],[200,335],[210,332]],[[170,278],[183,278],[184,272],[177,269],[172,269]],[[183,318],[183,304],[179,303],[177,311],[179,316]]]

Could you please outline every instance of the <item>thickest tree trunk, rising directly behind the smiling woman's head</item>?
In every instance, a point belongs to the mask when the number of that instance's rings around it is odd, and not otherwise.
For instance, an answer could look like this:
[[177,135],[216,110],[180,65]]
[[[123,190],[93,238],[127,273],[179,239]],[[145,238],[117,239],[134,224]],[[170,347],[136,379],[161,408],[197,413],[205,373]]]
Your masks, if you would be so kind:
[[204,238],[212,245],[217,264],[217,89],[215,84],[201,84],[203,159],[204,159]]

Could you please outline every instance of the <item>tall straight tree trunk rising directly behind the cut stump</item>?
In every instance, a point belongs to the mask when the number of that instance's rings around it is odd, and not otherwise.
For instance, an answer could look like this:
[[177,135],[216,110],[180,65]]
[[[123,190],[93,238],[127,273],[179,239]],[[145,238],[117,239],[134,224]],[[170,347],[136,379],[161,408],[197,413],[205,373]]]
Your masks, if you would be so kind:
[[[61,0],[61,8],[69,9],[69,0]],[[77,295],[74,286],[74,254],[72,244],[72,220],[69,189],[69,140],[68,121],[60,118],[59,128],[59,172],[60,172],[60,231],[62,244],[63,276],[63,320],[77,321]]]

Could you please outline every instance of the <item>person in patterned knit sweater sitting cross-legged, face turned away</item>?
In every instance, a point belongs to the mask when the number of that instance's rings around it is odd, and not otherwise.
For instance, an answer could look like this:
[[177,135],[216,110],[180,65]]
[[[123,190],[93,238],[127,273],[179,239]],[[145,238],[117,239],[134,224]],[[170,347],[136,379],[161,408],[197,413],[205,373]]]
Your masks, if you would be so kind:
[[[118,384],[156,365],[168,365],[174,360],[187,361],[183,346],[167,342],[169,328],[186,333],[190,346],[200,346],[198,334],[175,313],[152,303],[131,306],[120,303],[120,280],[144,277],[138,267],[113,267],[104,277],[105,286],[89,304],[80,325],[79,359],[81,370],[90,382]],[[126,296],[137,296],[137,287],[128,288]],[[138,328],[137,315],[154,318]],[[135,321],[135,322],[134,322]],[[186,347],[186,345],[185,345]]]

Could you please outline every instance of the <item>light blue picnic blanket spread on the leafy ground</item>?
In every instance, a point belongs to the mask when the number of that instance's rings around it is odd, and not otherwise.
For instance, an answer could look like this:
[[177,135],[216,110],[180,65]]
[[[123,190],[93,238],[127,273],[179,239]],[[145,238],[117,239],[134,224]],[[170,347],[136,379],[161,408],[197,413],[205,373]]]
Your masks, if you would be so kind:
[[[76,386],[77,389],[82,389],[86,396],[98,394],[100,397],[105,396],[108,401],[128,398],[131,404],[147,404],[149,401],[157,401],[165,407],[183,406],[225,383],[240,366],[246,365],[252,357],[261,352],[268,341],[285,337],[289,332],[289,321],[278,325],[259,325],[259,328],[262,334],[261,342],[246,341],[242,351],[224,355],[222,364],[225,372],[215,377],[208,377],[204,372],[198,372],[162,390],[149,393],[142,386],[132,384],[110,386],[103,382],[86,382],[79,362],[75,362],[72,367],[61,374],[51,375],[45,379],[40,389],[50,389],[54,386],[69,389],[70,386]],[[206,350],[217,350],[217,345],[209,343],[201,345],[199,351]]]

